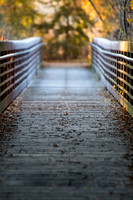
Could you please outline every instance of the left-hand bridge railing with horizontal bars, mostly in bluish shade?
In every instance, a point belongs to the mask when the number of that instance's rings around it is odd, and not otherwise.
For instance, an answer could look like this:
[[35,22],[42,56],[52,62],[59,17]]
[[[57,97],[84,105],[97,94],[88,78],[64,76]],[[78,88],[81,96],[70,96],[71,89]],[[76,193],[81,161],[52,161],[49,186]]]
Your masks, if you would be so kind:
[[40,37],[0,42],[0,112],[28,85],[41,62]]

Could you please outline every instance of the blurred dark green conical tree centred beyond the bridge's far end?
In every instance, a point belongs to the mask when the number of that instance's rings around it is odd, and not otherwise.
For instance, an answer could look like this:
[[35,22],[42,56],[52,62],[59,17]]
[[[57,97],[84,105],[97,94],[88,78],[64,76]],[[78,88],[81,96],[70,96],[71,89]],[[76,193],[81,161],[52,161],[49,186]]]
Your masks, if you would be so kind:
[[48,4],[54,11],[51,19],[37,25],[45,33],[51,32],[47,52],[53,58],[77,58],[89,41],[87,32],[94,26],[94,20],[82,8],[82,1],[54,0]]

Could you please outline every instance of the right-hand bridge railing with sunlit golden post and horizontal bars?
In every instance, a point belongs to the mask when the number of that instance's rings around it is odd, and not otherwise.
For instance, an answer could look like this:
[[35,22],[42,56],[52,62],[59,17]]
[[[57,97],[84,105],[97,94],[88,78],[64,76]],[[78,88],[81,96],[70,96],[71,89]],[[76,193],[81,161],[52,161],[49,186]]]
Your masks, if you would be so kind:
[[93,38],[91,46],[93,67],[133,117],[133,43]]

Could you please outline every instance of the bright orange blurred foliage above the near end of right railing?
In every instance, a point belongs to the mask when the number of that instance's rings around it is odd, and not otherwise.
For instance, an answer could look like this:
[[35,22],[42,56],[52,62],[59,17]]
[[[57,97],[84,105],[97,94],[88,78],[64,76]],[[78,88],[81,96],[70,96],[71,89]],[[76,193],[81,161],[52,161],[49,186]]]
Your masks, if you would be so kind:
[[88,33],[90,40],[93,37],[110,37],[112,39],[114,37],[113,33],[118,27],[117,11],[114,2],[112,0],[109,0],[108,3],[105,0],[95,0],[93,3],[103,21],[100,20],[89,0],[82,0],[82,7],[85,12],[89,13],[90,18],[95,21],[94,28]]

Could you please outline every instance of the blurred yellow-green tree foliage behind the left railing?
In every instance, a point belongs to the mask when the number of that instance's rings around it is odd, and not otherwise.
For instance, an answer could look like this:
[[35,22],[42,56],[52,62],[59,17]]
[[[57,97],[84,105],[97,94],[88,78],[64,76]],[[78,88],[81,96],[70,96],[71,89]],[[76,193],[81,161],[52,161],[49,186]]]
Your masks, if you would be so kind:
[[7,38],[19,39],[33,34],[33,24],[37,12],[34,0],[0,0],[0,29]]

